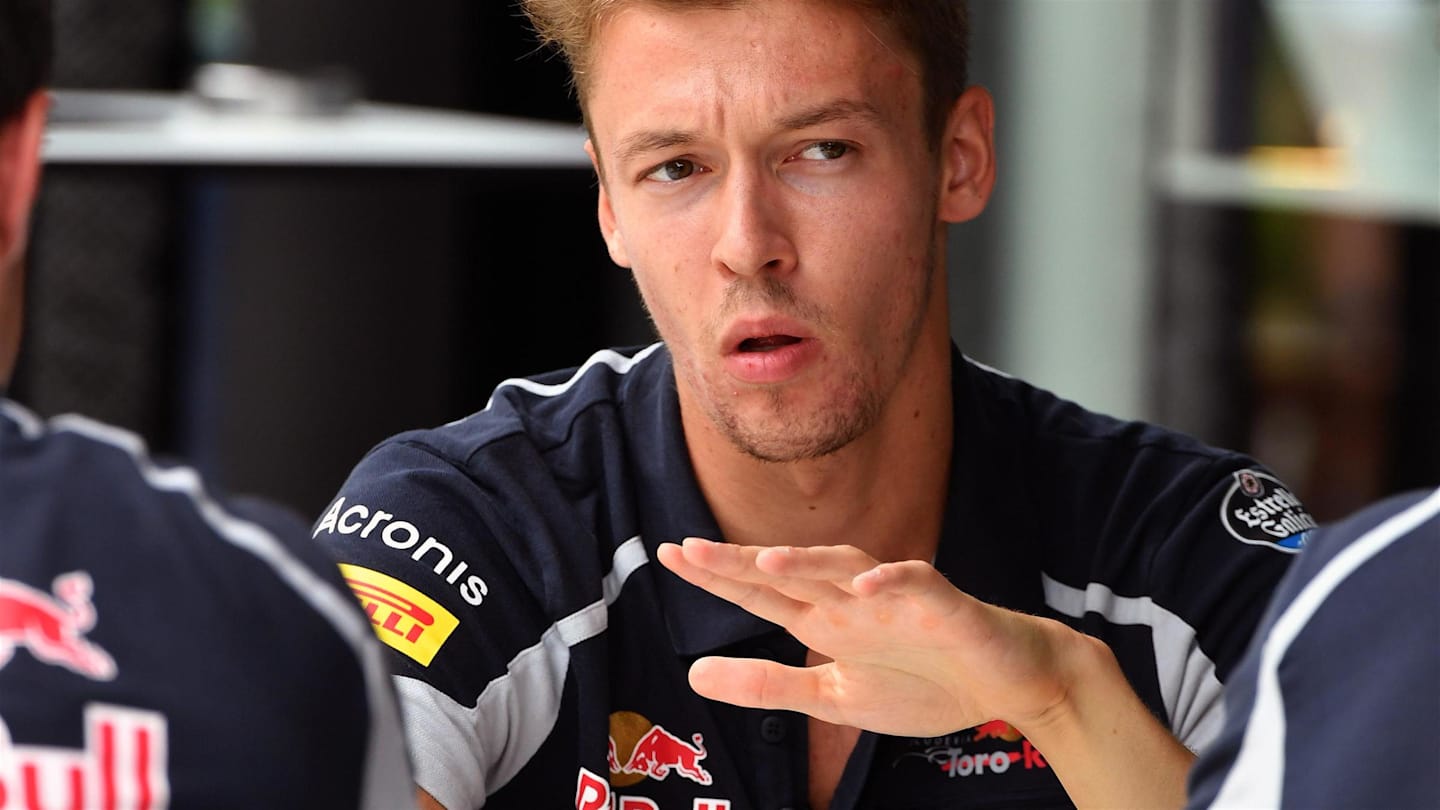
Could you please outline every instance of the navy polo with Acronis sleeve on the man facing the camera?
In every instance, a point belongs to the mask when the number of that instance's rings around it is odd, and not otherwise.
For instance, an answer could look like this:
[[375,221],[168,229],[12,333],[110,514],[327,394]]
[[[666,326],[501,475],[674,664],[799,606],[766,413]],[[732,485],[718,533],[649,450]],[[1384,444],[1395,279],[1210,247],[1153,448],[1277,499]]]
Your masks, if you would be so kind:
[[[1191,747],[1313,522],[1243,455],[1099,417],[953,353],[936,566],[985,601],[1106,640]],[[382,442],[321,515],[395,650],[418,783],[449,810],[804,807],[806,721],[704,700],[704,654],[804,647],[651,564],[723,539],[662,344],[503,383],[487,408]],[[860,538],[835,538],[837,543]],[[1068,800],[1004,722],[864,734],[832,807]]]

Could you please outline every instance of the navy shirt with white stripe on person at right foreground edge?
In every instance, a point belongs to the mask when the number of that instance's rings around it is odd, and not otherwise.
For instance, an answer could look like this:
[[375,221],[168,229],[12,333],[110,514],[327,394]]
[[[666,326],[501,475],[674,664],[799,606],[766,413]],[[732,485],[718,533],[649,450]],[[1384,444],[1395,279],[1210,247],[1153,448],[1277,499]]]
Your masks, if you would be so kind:
[[1191,807],[1440,807],[1440,491],[1315,540],[1225,692]]

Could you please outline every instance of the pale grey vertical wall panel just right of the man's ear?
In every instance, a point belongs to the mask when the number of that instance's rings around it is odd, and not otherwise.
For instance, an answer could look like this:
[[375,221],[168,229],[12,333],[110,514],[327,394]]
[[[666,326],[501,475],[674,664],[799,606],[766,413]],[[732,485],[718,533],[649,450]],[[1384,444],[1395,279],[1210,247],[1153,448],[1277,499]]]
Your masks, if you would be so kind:
[[[995,362],[1146,418],[1153,0],[1005,0]],[[984,33],[984,32],[981,32]]]

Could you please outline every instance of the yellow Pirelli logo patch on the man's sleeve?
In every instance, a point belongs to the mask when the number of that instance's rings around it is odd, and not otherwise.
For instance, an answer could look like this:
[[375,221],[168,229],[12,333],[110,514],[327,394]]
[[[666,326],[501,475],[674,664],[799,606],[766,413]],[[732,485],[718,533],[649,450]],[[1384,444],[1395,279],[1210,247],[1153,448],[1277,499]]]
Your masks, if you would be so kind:
[[459,626],[455,614],[395,577],[344,562],[340,574],[374,624],[374,634],[420,666],[431,666]]

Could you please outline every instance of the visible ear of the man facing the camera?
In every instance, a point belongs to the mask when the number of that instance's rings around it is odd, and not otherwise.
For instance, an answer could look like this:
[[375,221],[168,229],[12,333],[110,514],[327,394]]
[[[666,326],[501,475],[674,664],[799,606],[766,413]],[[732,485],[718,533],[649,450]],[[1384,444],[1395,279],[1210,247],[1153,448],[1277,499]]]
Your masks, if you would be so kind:
[[975,219],[995,187],[995,102],[982,86],[966,88],[940,140],[940,219]]

